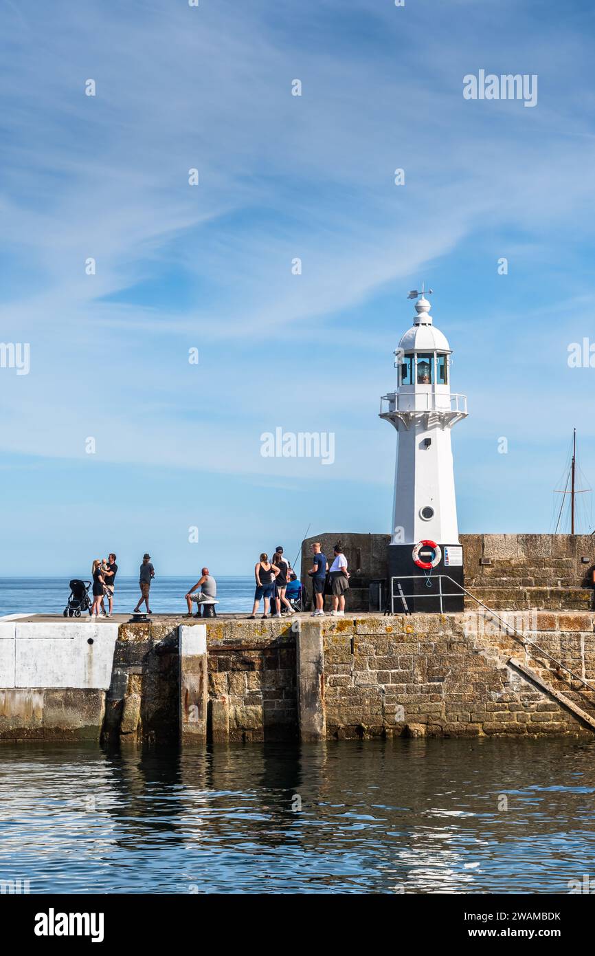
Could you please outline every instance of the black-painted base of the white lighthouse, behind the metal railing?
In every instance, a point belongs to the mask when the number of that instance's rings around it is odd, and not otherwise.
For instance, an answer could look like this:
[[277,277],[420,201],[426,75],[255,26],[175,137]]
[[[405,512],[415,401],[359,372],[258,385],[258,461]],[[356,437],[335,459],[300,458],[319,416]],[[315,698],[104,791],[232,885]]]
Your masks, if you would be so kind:
[[[464,586],[462,546],[440,542],[440,550],[436,568],[425,571],[414,563],[413,544],[388,545],[388,611],[441,614],[464,610],[465,596],[460,590]],[[432,549],[422,547],[419,558],[428,560],[432,555]]]

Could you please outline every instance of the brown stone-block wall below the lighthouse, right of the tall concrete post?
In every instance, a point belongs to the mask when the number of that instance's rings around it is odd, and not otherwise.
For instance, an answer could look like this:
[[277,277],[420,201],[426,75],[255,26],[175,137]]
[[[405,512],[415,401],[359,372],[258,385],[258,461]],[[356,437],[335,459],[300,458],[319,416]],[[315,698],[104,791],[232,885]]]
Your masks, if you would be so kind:
[[[522,618],[523,616],[517,616]],[[536,614],[530,641],[595,684],[592,615]],[[546,628],[550,628],[546,630]],[[590,694],[550,673],[498,621],[461,615],[328,619],[325,652],[327,735],[493,736],[592,733],[508,662],[522,661],[592,713]],[[574,688],[574,689],[573,689]]]

